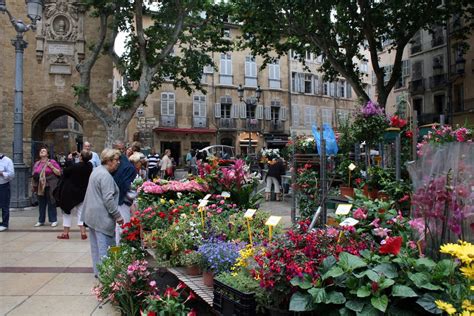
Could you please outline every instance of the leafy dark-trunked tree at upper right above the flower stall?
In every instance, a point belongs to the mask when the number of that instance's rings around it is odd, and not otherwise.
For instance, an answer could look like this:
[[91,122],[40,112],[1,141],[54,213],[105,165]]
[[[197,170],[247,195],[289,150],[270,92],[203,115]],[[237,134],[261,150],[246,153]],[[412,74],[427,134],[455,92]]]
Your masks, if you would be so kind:
[[[377,102],[385,108],[387,97],[402,72],[406,45],[420,29],[445,24],[454,13],[472,17],[472,10],[462,11],[469,1],[446,0],[339,0],[339,1],[249,1],[233,0],[234,19],[242,25],[242,45],[268,62],[271,52],[284,55],[294,50],[323,55],[322,70],[326,79],[342,75],[356,94],[367,102],[369,96],[362,81],[358,61],[368,50],[376,77]],[[469,7],[472,9],[472,7]],[[465,32],[466,28],[459,30]],[[384,80],[384,68],[378,52],[395,52],[393,71]]]

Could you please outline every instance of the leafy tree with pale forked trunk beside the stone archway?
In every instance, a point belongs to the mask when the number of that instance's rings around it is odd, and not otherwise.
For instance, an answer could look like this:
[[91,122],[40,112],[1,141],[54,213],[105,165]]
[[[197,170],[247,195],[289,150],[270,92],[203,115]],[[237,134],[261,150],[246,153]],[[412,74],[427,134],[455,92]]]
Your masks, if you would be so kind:
[[[168,77],[188,93],[203,90],[204,66],[214,66],[211,51],[226,51],[230,43],[221,36],[225,6],[213,1],[83,0],[99,20],[98,36],[90,54],[76,69],[80,83],[74,86],[77,104],[92,112],[106,127],[106,146],[125,136],[137,108]],[[150,23],[147,25],[147,19]],[[126,52],[119,56],[115,39],[128,34]],[[123,78],[111,112],[90,95],[91,71],[102,55],[112,59]]]

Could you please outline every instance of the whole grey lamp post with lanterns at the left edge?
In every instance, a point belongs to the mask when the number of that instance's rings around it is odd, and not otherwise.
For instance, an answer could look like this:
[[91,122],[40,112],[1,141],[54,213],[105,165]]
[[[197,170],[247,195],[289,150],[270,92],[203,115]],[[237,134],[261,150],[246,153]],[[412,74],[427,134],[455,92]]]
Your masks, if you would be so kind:
[[28,167],[23,161],[23,52],[28,43],[23,39],[23,34],[29,30],[36,30],[36,22],[41,20],[43,14],[43,0],[26,0],[27,16],[31,24],[15,19],[7,9],[6,0],[0,0],[0,12],[6,13],[16,37],[12,39],[15,47],[15,112],[13,119],[13,164],[15,178],[12,186],[11,207],[25,207],[30,205],[28,198]]

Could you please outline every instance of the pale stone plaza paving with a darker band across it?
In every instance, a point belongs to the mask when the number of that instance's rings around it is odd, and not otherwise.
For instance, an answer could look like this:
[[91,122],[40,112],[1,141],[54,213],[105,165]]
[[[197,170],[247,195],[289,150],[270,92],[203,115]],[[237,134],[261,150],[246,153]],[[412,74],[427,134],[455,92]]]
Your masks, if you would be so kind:
[[[266,202],[261,209],[283,216],[290,223],[290,198]],[[73,226],[69,240],[59,240],[59,225],[33,227],[38,208],[12,211],[10,228],[0,233],[0,315],[120,315],[110,304],[101,305],[92,295],[97,282],[92,275],[88,240]],[[75,219],[73,218],[73,223]]]

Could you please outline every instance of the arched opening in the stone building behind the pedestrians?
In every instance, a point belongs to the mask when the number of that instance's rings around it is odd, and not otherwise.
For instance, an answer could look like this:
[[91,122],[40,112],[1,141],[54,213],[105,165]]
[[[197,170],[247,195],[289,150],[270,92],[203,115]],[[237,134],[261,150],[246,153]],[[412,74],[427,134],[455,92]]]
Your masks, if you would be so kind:
[[35,160],[39,147],[48,146],[51,155],[67,154],[82,148],[83,119],[63,104],[52,104],[36,113],[31,126],[31,157]]

